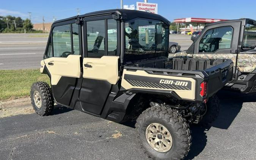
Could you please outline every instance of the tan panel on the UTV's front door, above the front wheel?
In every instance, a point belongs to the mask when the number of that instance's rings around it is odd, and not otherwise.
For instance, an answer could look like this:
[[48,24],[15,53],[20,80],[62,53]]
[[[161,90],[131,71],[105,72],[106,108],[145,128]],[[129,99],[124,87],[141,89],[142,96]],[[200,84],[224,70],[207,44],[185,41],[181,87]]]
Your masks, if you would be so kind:
[[67,58],[51,57],[45,59],[44,63],[51,74],[51,84],[57,85],[62,76],[80,78],[80,57],[81,55],[69,55]]

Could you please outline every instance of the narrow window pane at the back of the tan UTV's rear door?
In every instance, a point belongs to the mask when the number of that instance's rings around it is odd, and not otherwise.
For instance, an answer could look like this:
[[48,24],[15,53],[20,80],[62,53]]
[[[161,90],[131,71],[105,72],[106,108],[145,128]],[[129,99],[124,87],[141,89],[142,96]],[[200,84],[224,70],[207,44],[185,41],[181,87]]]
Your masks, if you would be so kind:
[[116,55],[117,47],[117,28],[114,19],[107,20],[108,33],[108,55]]

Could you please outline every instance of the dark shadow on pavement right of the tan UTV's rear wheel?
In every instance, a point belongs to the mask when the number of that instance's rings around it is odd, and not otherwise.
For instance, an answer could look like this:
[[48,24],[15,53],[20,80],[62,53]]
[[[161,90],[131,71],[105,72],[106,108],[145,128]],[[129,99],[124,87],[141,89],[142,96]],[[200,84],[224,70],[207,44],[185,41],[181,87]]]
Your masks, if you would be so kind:
[[210,125],[202,127],[192,125],[192,145],[185,160],[191,160],[198,156],[207,144],[207,131],[211,127],[228,129],[239,114],[244,102],[256,102],[256,94],[242,94],[221,90],[217,93],[220,99],[220,113],[217,119]]

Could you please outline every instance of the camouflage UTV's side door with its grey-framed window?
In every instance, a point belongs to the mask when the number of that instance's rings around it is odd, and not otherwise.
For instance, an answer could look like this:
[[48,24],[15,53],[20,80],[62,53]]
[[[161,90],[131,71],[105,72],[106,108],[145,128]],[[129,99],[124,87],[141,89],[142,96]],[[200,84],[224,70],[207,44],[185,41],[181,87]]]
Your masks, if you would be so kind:
[[206,26],[188,53],[193,52],[193,58],[224,58],[236,63],[240,25],[237,21]]

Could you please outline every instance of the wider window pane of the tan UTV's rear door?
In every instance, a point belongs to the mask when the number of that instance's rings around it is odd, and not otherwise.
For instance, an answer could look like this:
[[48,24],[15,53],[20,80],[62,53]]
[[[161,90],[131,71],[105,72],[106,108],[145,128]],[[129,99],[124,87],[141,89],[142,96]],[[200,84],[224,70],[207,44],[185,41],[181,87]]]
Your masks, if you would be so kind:
[[105,20],[86,22],[87,49],[89,58],[101,58],[105,55]]

